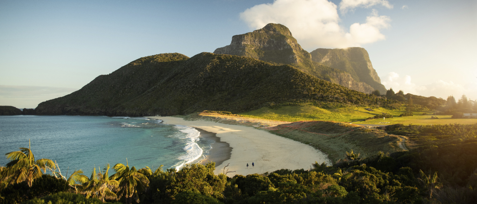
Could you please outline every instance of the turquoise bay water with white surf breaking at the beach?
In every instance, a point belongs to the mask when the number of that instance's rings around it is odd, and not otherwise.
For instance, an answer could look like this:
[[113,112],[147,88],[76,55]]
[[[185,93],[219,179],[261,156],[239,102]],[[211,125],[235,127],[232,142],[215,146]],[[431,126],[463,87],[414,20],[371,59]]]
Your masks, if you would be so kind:
[[[212,140],[198,137],[188,126],[173,126],[144,117],[103,116],[0,116],[0,154],[28,147],[35,159],[57,161],[63,175],[82,169],[122,163],[137,169],[180,168],[198,162]],[[0,165],[9,160],[0,156]],[[110,172],[110,174],[112,174]]]

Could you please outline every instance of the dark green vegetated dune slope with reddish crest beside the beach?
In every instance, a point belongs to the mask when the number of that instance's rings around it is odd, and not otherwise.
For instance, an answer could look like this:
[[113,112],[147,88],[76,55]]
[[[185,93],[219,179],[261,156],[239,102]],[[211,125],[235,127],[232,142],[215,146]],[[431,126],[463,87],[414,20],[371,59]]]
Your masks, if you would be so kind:
[[399,136],[389,135],[384,130],[365,128],[330,121],[294,122],[267,128],[271,133],[309,144],[328,154],[334,163],[345,158],[346,151],[353,149],[363,156],[379,151],[403,151],[398,147]]

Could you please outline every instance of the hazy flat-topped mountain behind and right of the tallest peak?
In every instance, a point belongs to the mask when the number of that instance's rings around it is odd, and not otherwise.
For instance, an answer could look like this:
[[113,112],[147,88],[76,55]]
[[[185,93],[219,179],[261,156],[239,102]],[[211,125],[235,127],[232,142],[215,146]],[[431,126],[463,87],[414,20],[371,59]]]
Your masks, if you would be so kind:
[[350,73],[356,81],[370,85],[381,94],[386,93],[364,48],[315,49],[311,52],[311,60]]

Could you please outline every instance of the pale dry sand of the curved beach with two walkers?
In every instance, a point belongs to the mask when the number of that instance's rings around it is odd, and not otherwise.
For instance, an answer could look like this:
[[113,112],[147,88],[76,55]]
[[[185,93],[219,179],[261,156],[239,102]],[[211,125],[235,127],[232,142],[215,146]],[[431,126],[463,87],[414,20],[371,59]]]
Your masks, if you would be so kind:
[[[236,174],[262,174],[279,169],[305,169],[311,168],[311,164],[317,161],[331,165],[327,155],[316,150],[312,146],[273,135],[267,131],[249,126],[228,125],[211,121],[188,121],[179,117],[150,117],[163,120],[164,124],[183,125],[197,127],[209,132],[216,133],[220,141],[227,142],[232,147],[230,159],[222,163],[215,170],[215,174],[222,173],[225,165],[229,177]],[[255,167],[252,167],[252,162]],[[249,167],[247,168],[247,163]],[[227,170],[226,168],[226,170]]]

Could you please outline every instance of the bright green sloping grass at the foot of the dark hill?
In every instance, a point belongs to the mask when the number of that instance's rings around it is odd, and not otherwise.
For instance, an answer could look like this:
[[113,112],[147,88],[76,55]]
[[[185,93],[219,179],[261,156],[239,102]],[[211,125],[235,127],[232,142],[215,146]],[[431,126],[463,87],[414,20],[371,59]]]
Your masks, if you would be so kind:
[[[365,110],[371,108],[373,111]],[[302,120],[326,120],[339,122],[353,122],[368,117],[373,117],[382,113],[393,115],[394,117],[404,113],[405,107],[399,109],[387,109],[383,107],[340,107],[340,108],[320,108],[313,106],[311,103],[302,104],[301,106],[286,106],[280,108],[262,107],[246,113],[239,113],[243,117],[281,120],[281,121],[302,121]],[[428,113],[431,111],[420,111],[416,114]]]

